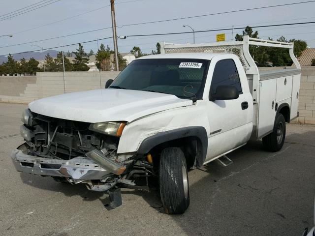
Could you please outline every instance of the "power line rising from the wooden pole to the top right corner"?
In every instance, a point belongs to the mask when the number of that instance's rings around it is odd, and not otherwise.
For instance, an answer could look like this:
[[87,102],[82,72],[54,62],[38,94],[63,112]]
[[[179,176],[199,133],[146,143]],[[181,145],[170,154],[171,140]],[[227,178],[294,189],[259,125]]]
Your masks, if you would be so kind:
[[167,21],[176,21],[176,20],[191,19],[191,18],[196,18],[196,17],[214,16],[214,15],[221,15],[221,14],[233,13],[233,12],[251,11],[251,10],[257,10],[257,9],[266,9],[266,8],[279,7],[279,6],[289,6],[289,5],[310,3],[310,2],[315,2],[315,0],[311,0],[311,1],[301,1],[301,2],[292,2],[292,3],[286,3],[286,4],[271,5],[271,6],[254,7],[254,8],[247,8],[247,9],[234,10],[234,11],[223,11],[223,12],[210,13],[210,14],[197,15],[197,16],[173,18],[173,19],[168,19],[168,20],[160,20],[160,21],[150,21],[150,22],[126,24],[126,25],[121,26],[120,28],[122,28],[122,27],[124,27],[124,26],[137,26],[137,25],[144,25],[144,24],[152,24],[152,23],[167,22]]

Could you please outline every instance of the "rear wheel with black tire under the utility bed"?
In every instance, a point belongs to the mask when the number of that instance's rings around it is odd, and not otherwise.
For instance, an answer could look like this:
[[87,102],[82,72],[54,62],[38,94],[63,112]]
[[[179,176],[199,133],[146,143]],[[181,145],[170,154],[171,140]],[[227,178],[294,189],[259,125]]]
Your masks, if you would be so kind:
[[278,114],[273,132],[262,138],[262,144],[268,151],[279,151],[284,146],[284,139],[285,119],[282,114]]

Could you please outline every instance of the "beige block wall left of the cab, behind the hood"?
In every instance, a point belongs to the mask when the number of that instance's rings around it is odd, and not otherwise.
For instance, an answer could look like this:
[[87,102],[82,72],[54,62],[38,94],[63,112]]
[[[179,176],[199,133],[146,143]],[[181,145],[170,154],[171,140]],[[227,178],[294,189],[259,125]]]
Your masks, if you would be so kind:
[[[105,88],[120,72],[65,72],[65,92]],[[0,77],[0,102],[30,103],[64,93],[63,72],[38,72],[36,76]]]

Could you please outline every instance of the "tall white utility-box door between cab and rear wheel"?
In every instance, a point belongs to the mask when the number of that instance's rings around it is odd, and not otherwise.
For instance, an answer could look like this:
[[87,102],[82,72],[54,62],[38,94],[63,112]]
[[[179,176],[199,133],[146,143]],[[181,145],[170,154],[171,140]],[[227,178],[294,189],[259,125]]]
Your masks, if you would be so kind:
[[277,79],[260,81],[258,137],[268,133],[274,127],[276,111],[272,109],[272,102],[276,105]]

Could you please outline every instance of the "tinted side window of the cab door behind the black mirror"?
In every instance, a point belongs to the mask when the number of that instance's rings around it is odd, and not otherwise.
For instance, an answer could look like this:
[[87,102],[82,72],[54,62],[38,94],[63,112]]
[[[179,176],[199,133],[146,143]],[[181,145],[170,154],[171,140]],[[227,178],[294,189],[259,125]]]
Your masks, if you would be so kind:
[[211,94],[215,94],[217,87],[221,85],[234,86],[240,93],[242,92],[240,77],[232,59],[224,59],[217,62],[212,76]]

